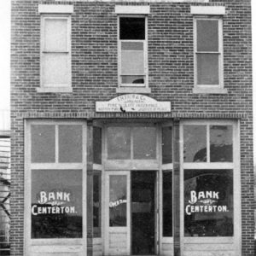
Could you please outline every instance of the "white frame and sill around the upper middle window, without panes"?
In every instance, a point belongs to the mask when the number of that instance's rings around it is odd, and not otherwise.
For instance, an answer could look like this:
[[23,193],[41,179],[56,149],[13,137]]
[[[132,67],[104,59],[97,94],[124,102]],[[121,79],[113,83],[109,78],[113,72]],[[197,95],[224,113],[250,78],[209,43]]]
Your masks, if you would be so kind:
[[[145,19],[145,40],[131,40],[132,42],[143,42],[144,46],[144,84],[122,84],[121,81],[121,42],[128,42],[130,40],[119,39],[119,21],[120,18],[144,18]],[[133,74],[131,74],[133,75]],[[118,83],[119,86],[116,92],[119,93],[150,93],[148,88],[148,17],[146,15],[119,15],[118,16]]]

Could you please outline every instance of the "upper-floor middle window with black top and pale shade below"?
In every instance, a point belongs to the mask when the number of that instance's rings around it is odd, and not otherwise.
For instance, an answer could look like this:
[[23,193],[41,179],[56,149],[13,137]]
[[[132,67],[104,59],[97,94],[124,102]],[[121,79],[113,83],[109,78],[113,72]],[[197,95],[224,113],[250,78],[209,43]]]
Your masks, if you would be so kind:
[[147,86],[147,17],[119,17],[119,86]]

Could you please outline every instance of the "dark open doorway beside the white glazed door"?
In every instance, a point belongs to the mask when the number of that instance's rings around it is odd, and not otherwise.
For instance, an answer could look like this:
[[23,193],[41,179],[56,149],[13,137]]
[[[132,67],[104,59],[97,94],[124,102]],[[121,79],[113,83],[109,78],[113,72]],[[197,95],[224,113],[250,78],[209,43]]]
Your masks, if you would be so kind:
[[131,251],[152,255],[154,248],[155,172],[131,172]]

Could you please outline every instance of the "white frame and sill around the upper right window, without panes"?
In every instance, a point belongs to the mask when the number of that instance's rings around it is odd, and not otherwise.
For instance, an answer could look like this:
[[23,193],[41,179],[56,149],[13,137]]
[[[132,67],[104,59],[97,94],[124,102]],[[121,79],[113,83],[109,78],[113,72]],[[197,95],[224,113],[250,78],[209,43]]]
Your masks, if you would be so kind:
[[[197,84],[197,20],[218,20],[218,81],[219,84]],[[212,94],[225,94],[228,90],[224,89],[224,57],[223,57],[223,20],[220,17],[194,17],[194,93],[212,93]],[[202,53],[202,52],[201,52]]]

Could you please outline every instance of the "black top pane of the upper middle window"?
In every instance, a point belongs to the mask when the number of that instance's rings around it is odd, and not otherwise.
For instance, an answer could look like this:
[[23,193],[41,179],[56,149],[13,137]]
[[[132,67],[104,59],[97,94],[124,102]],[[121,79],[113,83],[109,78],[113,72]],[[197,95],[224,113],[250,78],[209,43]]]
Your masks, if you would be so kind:
[[119,18],[119,37],[127,40],[145,39],[145,18]]

